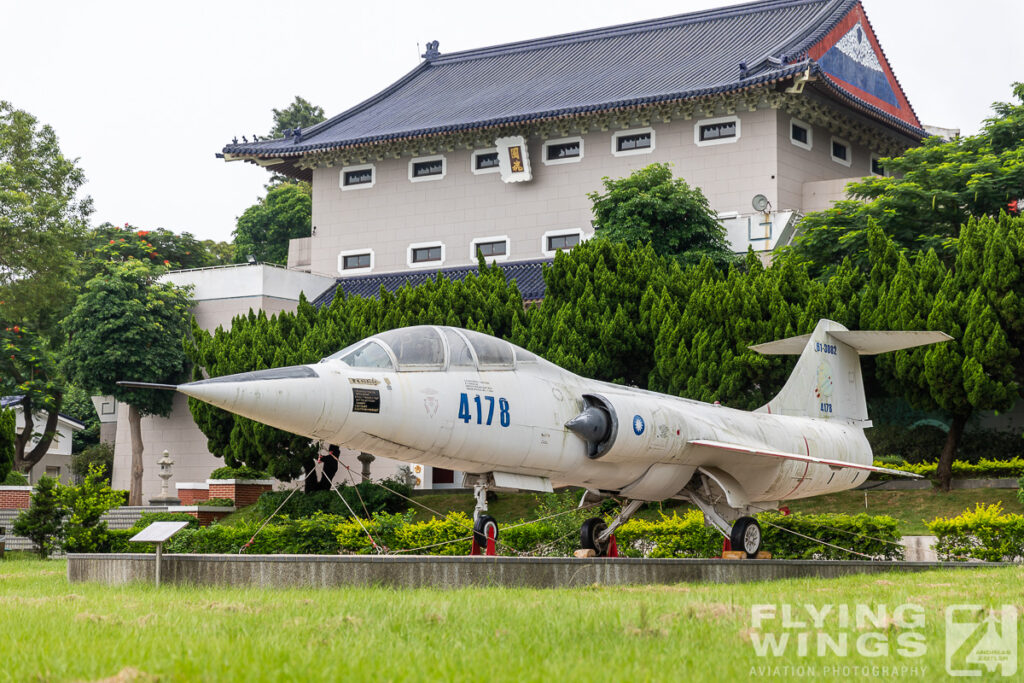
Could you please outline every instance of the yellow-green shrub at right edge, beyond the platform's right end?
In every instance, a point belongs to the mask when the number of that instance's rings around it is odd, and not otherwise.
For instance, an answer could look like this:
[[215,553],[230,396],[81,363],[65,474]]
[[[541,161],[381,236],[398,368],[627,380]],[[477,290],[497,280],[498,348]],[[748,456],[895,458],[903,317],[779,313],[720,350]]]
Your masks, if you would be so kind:
[[979,503],[956,517],[928,522],[939,559],[1013,562],[1024,557],[1024,515],[1004,514],[1002,505]]

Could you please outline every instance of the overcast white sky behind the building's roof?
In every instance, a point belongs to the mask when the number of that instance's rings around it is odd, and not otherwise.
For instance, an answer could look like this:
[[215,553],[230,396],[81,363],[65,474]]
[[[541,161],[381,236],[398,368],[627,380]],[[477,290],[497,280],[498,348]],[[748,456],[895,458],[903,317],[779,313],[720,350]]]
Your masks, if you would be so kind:
[[[295,95],[333,116],[415,68],[430,40],[453,52],[725,4],[737,3],[0,0],[0,99],[79,159],[94,224],[230,240],[267,172],[214,154],[266,134]],[[976,132],[1024,81],[1021,0],[863,4],[926,124]]]

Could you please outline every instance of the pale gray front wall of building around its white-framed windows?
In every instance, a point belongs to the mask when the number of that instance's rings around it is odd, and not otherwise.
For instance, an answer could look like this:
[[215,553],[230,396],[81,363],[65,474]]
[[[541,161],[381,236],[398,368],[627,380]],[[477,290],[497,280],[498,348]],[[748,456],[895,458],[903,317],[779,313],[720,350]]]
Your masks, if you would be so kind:
[[[531,138],[529,182],[504,183],[497,173],[474,174],[468,150],[445,154],[446,171],[439,180],[411,182],[411,158],[406,157],[375,162],[374,186],[360,189],[343,191],[338,167],[316,169],[312,272],[337,274],[338,254],[355,249],[374,250],[374,271],[402,270],[411,244],[435,240],[445,246],[443,266],[475,263],[470,258],[472,240],[498,236],[510,238],[510,259],[542,258],[546,231],[592,232],[587,194],[602,188],[603,176],[623,177],[655,162],[673,164],[674,173],[701,187],[718,212],[750,213],[751,198],[757,194],[777,207],[776,113],[737,116],[740,135],[735,142],[698,146],[698,120],[680,120],[655,124],[654,148],[634,156],[612,155],[613,131],[593,132],[584,136],[579,163],[545,165],[544,140]],[[346,274],[358,272],[364,270]]]

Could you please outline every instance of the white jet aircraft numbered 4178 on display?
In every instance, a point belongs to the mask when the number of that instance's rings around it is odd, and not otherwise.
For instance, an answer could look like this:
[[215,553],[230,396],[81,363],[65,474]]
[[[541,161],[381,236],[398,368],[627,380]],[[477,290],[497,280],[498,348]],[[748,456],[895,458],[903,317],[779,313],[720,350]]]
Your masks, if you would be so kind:
[[643,503],[681,499],[754,557],[756,512],[853,488],[870,472],[915,476],[871,465],[858,355],[949,339],[822,319],[809,335],[751,347],[800,355],[779,394],[754,412],[579,377],[507,341],[439,326],[384,332],[314,365],[158,386],[325,443],[466,472],[478,540],[498,532],[483,514],[488,488],[580,486],[584,501],[626,499],[610,525],[594,517],[581,529],[598,555]]

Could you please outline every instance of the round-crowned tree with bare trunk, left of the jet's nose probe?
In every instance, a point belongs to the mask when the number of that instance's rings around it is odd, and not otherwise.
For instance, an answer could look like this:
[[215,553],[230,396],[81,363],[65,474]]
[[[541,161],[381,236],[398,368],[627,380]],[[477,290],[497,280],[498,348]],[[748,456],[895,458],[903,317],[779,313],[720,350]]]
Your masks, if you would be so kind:
[[128,404],[132,470],[129,505],[142,504],[143,415],[167,416],[173,393],[118,386],[120,380],[177,383],[184,375],[188,292],[158,282],[163,272],[132,259],[85,285],[71,315],[63,370],[82,387]]

